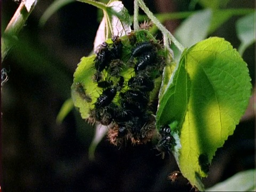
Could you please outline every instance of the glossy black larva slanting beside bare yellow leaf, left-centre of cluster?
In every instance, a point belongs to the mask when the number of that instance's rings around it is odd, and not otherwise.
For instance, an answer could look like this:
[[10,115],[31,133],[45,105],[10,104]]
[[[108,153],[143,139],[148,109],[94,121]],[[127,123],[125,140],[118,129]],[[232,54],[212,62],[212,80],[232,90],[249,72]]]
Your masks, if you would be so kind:
[[102,94],[94,104],[95,108],[108,106],[111,103],[111,101],[114,99],[115,95],[116,95],[116,87],[109,87],[103,90]]

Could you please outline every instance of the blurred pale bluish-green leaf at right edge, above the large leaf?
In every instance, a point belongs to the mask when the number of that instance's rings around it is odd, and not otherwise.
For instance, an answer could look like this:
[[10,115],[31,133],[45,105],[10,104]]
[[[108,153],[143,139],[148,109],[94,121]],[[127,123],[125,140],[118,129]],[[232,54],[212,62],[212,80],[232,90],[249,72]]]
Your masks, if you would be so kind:
[[255,13],[246,15],[236,22],[236,31],[241,45],[238,52],[243,55],[245,49],[255,42]]

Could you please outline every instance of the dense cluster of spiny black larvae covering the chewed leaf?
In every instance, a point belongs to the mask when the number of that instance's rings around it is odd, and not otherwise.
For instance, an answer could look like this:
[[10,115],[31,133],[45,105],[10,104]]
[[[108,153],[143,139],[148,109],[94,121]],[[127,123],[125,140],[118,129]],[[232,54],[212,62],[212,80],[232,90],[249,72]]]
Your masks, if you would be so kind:
[[[165,67],[164,58],[157,54],[163,49],[159,43],[137,42],[133,33],[128,37],[132,49],[126,61],[122,59],[124,45],[118,36],[113,36],[113,43],[103,42],[95,51],[94,59],[92,79],[102,93],[90,111],[90,121],[108,125],[108,138],[115,145],[124,139],[143,143],[153,138],[155,118],[152,114],[156,109],[151,105],[150,92],[154,90],[155,78],[162,75]],[[127,68],[133,72],[129,78],[121,75]],[[113,102],[115,97],[118,102]]]

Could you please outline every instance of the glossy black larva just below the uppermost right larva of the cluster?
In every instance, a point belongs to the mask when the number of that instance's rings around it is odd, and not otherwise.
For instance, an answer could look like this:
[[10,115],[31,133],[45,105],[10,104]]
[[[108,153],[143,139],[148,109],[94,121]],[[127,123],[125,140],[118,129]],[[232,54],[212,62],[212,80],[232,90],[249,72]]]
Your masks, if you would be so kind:
[[134,70],[137,72],[137,71],[146,69],[147,66],[153,65],[155,63],[155,59],[156,59],[155,51],[151,51],[151,52],[142,54],[139,57],[138,62],[136,63],[136,65],[134,67]]

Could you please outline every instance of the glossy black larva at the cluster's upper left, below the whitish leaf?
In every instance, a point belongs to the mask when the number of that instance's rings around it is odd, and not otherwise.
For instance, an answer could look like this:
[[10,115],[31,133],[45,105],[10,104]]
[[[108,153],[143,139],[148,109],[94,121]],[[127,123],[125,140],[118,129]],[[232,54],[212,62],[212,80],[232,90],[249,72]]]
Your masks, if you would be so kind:
[[110,51],[109,46],[106,42],[103,42],[100,46],[100,48],[95,51],[96,58],[95,61],[95,68],[97,71],[102,71],[103,69],[107,68],[110,61]]

